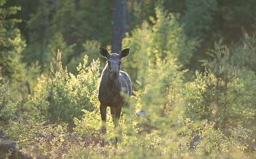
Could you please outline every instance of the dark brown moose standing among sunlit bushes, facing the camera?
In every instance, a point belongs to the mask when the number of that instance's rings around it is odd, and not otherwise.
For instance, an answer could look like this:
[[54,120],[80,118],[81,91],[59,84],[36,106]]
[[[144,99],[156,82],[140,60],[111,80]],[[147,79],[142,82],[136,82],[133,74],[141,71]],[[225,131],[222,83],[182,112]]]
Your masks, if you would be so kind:
[[[100,48],[100,54],[106,58],[106,65],[102,70],[98,100],[100,101],[101,120],[106,122],[106,108],[110,107],[110,113],[114,122],[114,128],[119,124],[122,106],[126,104],[124,96],[131,95],[131,79],[126,72],[121,71],[122,58],[126,57],[130,49],[123,49],[121,53],[109,54],[104,48]],[[104,134],[106,127],[103,126]],[[117,145],[118,137],[115,137]]]

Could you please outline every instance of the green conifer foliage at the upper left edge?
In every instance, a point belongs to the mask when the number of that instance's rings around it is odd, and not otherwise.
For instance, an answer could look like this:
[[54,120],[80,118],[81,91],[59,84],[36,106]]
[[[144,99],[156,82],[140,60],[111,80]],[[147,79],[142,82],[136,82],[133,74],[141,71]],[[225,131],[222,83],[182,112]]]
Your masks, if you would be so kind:
[[26,43],[20,37],[19,29],[15,28],[15,24],[20,20],[10,18],[20,10],[20,7],[5,7],[5,5],[6,1],[2,0],[0,2],[0,69],[3,76],[17,81],[24,78],[21,52]]

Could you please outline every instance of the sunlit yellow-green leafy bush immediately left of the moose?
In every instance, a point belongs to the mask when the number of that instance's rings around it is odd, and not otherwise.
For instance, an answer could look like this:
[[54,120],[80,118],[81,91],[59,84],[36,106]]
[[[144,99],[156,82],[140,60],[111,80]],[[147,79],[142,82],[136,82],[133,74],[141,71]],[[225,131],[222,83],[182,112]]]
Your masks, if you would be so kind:
[[97,85],[99,62],[93,61],[87,66],[87,57],[84,63],[77,67],[77,75],[68,74],[63,70],[61,53],[57,54],[55,68],[52,66],[49,78],[42,76],[35,96],[27,105],[37,108],[51,123],[66,122],[69,128],[73,126],[73,118],[81,117],[81,110],[97,108]]

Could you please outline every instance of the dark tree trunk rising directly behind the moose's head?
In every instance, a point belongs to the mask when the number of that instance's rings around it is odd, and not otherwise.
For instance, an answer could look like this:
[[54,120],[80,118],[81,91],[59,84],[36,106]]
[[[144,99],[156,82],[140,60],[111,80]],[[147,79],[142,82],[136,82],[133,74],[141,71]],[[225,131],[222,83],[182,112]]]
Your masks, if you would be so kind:
[[122,39],[126,30],[126,1],[114,0],[112,15],[112,53],[122,50]]

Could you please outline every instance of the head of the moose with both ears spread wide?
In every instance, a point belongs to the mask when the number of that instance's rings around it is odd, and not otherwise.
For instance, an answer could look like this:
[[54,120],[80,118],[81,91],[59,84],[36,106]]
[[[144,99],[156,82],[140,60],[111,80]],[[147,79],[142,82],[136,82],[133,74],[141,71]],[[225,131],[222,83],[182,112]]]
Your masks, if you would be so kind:
[[108,61],[108,71],[110,74],[110,79],[115,81],[119,78],[120,70],[121,70],[121,63],[122,58],[126,57],[130,52],[130,49],[123,49],[121,53],[112,53],[104,49],[100,48],[100,54],[102,57],[106,58]]

